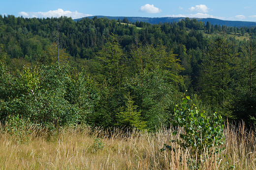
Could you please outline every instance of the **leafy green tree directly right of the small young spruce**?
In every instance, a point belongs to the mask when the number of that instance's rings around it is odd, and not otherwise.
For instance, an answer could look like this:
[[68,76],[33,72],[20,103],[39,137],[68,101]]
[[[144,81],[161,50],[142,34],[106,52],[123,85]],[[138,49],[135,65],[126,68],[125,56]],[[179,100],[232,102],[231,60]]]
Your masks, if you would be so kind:
[[168,72],[157,68],[152,72],[136,74],[125,85],[141,111],[142,120],[147,121],[148,129],[154,130],[163,124],[168,125],[174,91],[168,80]]

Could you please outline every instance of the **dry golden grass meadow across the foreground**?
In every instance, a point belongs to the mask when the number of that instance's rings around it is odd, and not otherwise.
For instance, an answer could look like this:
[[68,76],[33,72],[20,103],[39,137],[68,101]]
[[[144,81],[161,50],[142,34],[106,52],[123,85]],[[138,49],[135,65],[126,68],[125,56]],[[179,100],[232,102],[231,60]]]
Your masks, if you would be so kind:
[[[1,128],[0,170],[256,170],[255,132],[229,126],[225,137],[220,154],[204,150],[196,157],[169,143],[178,136],[165,128],[150,133],[79,126],[50,134],[30,127],[12,135]],[[164,144],[175,152],[160,152]]]

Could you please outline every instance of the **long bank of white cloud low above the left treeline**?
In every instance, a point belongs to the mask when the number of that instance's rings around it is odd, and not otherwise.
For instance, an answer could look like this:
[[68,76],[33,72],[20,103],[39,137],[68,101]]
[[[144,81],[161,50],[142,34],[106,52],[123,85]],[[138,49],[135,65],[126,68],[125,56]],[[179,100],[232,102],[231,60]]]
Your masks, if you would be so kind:
[[77,19],[77,18],[83,18],[83,17],[88,17],[92,16],[90,14],[83,14],[79,13],[77,11],[71,12],[71,11],[64,11],[63,9],[58,9],[54,11],[48,11],[48,12],[19,12],[19,16],[23,16],[25,18],[51,18],[51,17],[61,17],[61,16],[66,16],[66,17],[71,17],[72,19]]

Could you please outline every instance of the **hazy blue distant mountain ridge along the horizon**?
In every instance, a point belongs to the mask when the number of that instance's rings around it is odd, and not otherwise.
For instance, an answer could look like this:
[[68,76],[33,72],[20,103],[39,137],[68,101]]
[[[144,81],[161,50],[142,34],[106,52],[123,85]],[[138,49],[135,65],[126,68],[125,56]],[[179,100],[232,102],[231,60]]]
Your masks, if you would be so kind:
[[[149,18],[149,17],[111,17],[111,16],[101,16],[101,15],[98,15],[98,16],[90,16],[90,17],[85,17],[85,18],[94,18],[94,17],[97,17],[97,18],[108,18],[110,20],[112,19],[115,19],[115,20],[123,20],[124,18],[127,18],[129,22],[131,23],[136,23],[136,21],[138,22],[146,22],[146,23],[150,23],[150,24],[159,24],[160,22],[161,23],[166,23],[166,22],[179,22],[181,21],[182,19],[185,19],[185,17],[179,17],[179,18],[175,18],[175,17],[160,17],[160,18]],[[74,19],[73,21],[79,21],[79,20],[82,20],[83,18],[80,18],[80,19]],[[193,18],[190,18],[190,19],[193,19]],[[250,27],[250,26],[256,26],[256,22],[249,22],[249,21],[224,21],[224,20],[219,20],[219,19],[215,19],[215,18],[194,18],[196,19],[197,21],[202,21],[204,22],[205,24],[208,22],[210,22],[211,24],[215,25],[226,25],[226,26],[236,26],[236,27],[242,27],[242,26],[247,26],[247,27]]]

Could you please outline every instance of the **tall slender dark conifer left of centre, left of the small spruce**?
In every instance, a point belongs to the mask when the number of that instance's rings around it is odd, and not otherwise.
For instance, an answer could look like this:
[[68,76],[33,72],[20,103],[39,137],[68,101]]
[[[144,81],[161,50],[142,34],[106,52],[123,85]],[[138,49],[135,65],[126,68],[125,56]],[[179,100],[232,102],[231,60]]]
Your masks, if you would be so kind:
[[119,112],[119,108],[123,102],[123,79],[124,79],[124,53],[118,43],[117,35],[108,38],[107,43],[99,51],[97,58],[101,63],[101,71],[103,80],[101,88],[101,104],[98,108],[100,119],[108,120],[106,125],[113,125],[115,115]]

